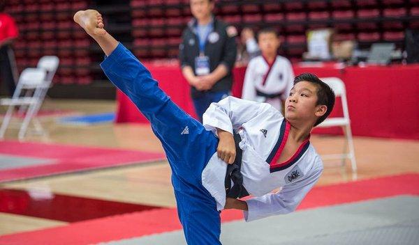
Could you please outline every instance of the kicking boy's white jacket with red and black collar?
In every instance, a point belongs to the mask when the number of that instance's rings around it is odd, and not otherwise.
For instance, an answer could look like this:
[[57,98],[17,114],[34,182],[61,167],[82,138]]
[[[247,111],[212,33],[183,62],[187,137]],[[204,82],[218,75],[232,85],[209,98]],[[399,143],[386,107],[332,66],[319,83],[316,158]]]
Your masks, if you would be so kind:
[[[246,221],[293,212],[323,171],[321,158],[309,139],[291,159],[277,163],[290,125],[270,104],[229,96],[211,104],[203,115],[203,125],[214,134],[216,128],[230,133],[239,130],[243,185],[253,196],[246,201]],[[226,204],[226,169],[226,162],[214,153],[202,173],[203,186],[215,198],[217,210]],[[272,192],[279,188],[281,191]]]

